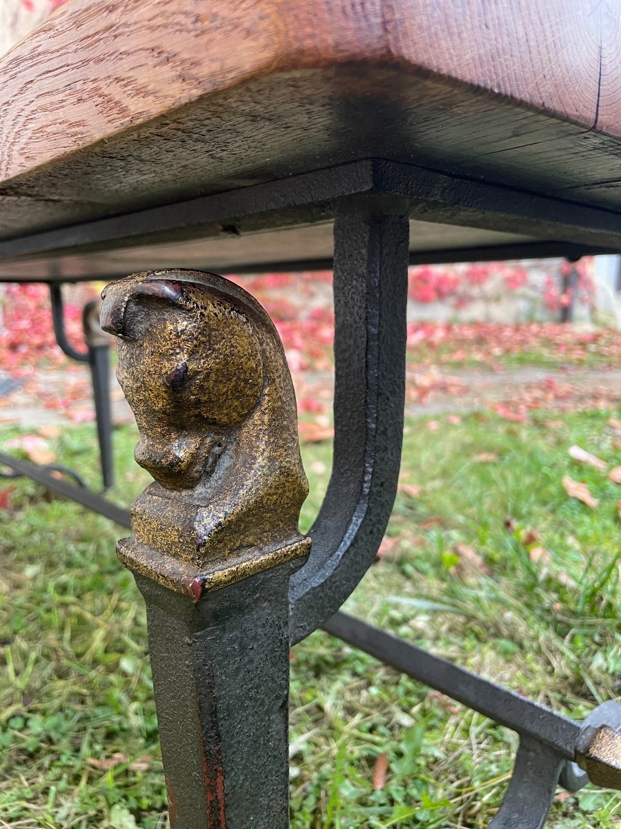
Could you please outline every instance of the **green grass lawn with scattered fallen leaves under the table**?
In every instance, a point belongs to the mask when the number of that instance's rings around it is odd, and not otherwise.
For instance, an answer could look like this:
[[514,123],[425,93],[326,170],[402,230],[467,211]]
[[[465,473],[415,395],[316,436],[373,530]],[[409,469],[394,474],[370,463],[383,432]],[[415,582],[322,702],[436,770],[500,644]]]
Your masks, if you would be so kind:
[[[621,487],[567,455],[577,443],[619,463],[610,414],[555,416],[552,427],[543,415],[475,414],[434,432],[409,420],[404,483],[421,494],[397,496],[393,543],[349,612],[575,717],[619,694]],[[119,502],[147,480],[134,442],[131,428],[117,431]],[[303,451],[307,528],[330,448]],[[59,456],[94,478],[92,430],[71,429]],[[601,498],[595,511],[566,496],[564,474]],[[529,529],[544,563],[522,544]],[[26,481],[2,512],[0,827],[166,827],[142,599],[113,553],[122,533]],[[470,567],[459,545],[479,556]],[[295,648],[291,671],[292,829],[488,825],[511,772],[511,732],[324,633]],[[384,752],[386,785],[373,791]],[[101,768],[114,754],[126,760]],[[586,788],[556,802],[549,825],[619,826],[620,802]]]

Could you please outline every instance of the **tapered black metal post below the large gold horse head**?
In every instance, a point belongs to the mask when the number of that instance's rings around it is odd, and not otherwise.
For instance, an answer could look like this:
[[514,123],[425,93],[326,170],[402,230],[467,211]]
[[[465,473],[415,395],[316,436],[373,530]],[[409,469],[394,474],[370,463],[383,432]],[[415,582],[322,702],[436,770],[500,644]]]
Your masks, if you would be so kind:
[[296,562],[198,604],[140,574],[171,829],[289,826],[287,586]]

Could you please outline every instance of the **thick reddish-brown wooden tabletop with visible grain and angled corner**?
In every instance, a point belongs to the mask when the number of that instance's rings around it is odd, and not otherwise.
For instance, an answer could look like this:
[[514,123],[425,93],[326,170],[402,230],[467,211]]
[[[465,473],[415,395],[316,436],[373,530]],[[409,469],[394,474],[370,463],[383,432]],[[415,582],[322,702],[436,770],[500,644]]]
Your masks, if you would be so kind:
[[0,240],[369,157],[621,211],[620,73],[614,0],[70,0],[0,58]]

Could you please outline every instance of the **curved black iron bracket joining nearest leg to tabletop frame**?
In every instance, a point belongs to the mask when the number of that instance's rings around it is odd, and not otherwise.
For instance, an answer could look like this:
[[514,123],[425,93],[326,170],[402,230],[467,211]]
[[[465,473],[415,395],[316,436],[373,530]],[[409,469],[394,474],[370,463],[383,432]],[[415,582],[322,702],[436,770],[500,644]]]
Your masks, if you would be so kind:
[[338,610],[373,563],[397,492],[407,341],[407,217],[367,206],[335,217],[335,445],[291,579],[291,644]]

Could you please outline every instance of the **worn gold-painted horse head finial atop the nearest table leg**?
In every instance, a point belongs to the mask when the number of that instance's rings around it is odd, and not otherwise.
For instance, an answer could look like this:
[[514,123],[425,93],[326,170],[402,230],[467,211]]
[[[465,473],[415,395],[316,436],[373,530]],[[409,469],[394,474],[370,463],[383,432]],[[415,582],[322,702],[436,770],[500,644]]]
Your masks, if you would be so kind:
[[[103,290],[104,331],[155,478],[120,559],[198,601],[310,552],[296,399],[276,328],[216,274],[135,274]],[[301,562],[302,563],[302,562]]]

